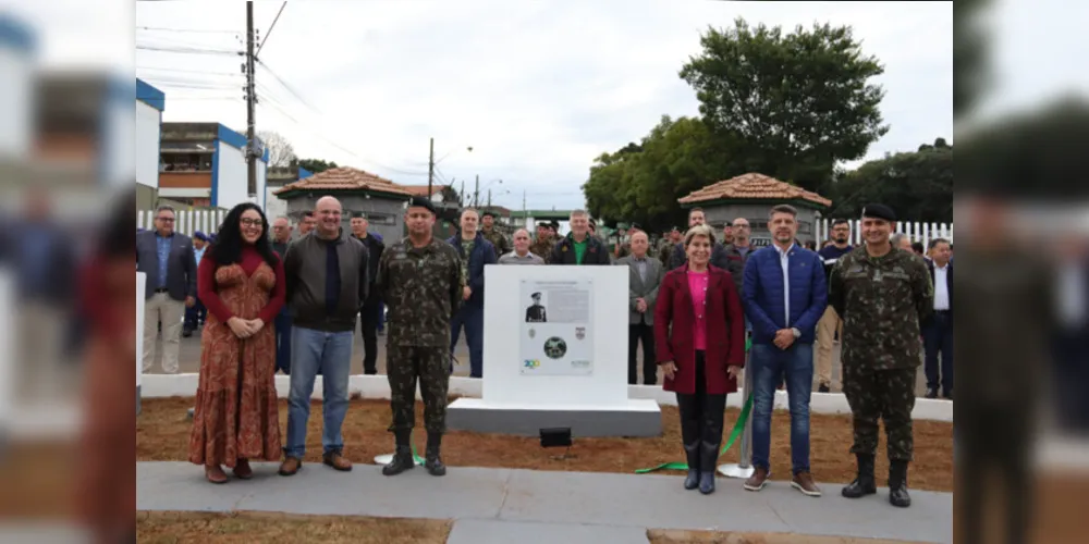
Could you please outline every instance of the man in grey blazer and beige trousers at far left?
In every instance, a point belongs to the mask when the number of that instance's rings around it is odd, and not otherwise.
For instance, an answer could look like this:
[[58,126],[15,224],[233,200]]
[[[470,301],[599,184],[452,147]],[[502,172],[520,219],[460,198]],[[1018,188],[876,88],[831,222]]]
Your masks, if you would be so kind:
[[155,231],[136,235],[136,271],[147,274],[144,313],[144,372],[155,362],[155,336],[162,322],[162,370],[178,373],[185,308],[196,304],[197,261],[193,240],[174,232],[174,209],[160,206]]

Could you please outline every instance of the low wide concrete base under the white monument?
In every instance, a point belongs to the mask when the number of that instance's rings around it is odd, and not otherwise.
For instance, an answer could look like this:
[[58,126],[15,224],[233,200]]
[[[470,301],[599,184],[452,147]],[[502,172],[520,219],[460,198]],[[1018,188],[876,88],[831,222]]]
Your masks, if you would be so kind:
[[566,428],[575,438],[650,437],[662,434],[662,410],[653,400],[629,399],[620,407],[495,406],[458,398],[446,407],[451,431],[539,436],[541,429]]

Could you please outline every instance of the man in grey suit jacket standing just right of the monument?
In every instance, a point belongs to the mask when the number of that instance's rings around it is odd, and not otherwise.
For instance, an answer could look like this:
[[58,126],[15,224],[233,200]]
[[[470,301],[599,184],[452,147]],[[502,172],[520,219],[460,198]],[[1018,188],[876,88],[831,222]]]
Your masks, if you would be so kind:
[[627,383],[638,383],[636,348],[643,342],[643,384],[658,383],[658,366],[654,364],[654,304],[658,288],[665,277],[662,262],[647,255],[650,238],[638,231],[632,235],[632,255],[616,260],[617,265],[631,269],[628,280],[628,329],[627,329]]

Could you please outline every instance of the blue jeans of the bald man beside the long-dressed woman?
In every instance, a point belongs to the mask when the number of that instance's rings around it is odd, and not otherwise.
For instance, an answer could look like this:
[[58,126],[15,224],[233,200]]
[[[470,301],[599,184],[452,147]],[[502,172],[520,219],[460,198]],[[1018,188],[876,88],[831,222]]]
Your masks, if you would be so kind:
[[355,331],[327,333],[294,326],[291,330],[291,393],[287,396],[287,436],[283,453],[302,459],[306,455],[306,422],[310,418],[310,394],[321,370],[325,400],[321,411],[323,453],[343,452],[341,425],[347,413],[347,376],[352,368]]

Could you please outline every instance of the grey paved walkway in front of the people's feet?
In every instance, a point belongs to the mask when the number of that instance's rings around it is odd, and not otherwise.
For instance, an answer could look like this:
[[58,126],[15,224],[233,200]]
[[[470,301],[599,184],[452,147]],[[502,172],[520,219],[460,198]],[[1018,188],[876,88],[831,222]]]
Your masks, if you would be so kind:
[[918,542],[953,542],[953,495],[913,492],[915,505],[889,505],[886,490],[862,500],[839,485],[808,498],[775,482],[748,493],[719,481],[709,497],[686,492],[677,475],[589,474],[452,467],[437,479],[416,469],[384,478],[375,466],[347,474],[307,465],[293,478],[255,466],[249,482],[212,485],[199,467],[137,462],[136,508],[182,511],[274,511],[455,520],[451,544],[647,543],[647,529],[796,533]]

